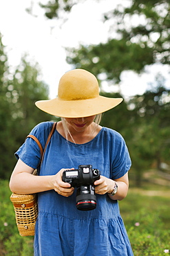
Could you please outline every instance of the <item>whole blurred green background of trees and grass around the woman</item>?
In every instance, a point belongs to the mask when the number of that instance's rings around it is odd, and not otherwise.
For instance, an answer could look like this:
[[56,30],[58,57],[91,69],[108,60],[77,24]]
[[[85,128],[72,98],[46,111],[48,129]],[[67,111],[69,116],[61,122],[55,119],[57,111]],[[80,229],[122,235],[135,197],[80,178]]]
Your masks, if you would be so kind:
[[[40,8],[47,19],[64,23],[72,7],[85,1],[51,0]],[[142,74],[153,64],[170,68],[169,0],[127,1],[129,8],[120,4],[103,14],[103,22],[110,24],[105,44],[65,49],[70,69],[85,68],[94,73],[100,94],[107,97],[122,97],[119,86],[123,71]],[[32,8],[27,12],[32,15]],[[49,97],[39,64],[25,54],[19,66],[11,68],[2,38],[0,31],[0,255],[28,256],[33,255],[33,239],[19,237],[9,199],[8,180],[17,161],[14,152],[36,124],[58,118],[34,105],[36,100]],[[103,82],[111,88],[114,84],[116,92],[104,91]],[[131,155],[130,189],[120,202],[120,212],[136,256],[160,256],[170,249],[170,87],[165,82],[158,73],[143,95],[125,98],[103,115],[101,123],[123,135]]]

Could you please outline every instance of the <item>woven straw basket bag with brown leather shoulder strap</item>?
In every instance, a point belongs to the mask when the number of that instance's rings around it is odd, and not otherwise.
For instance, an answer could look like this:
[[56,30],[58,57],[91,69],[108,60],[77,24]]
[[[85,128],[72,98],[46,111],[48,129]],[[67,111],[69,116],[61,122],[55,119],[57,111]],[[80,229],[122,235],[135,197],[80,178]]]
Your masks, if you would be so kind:
[[[41,152],[41,161],[39,164],[41,164],[43,161],[45,149],[55,129],[56,129],[56,122],[54,122],[54,125],[52,126],[52,129],[47,138],[44,149],[42,148],[41,143],[35,136],[30,134],[26,137],[26,138],[30,137],[34,139],[36,143],[39,145],[39,149]],[[37,170],[34,170],[32,174],[37,175]],[[10,201],[12,201],[14,205],[15,219],[17,223],[17,228],[19,230],[19,235],[21,235],[22,237],[34,235],[36,218],[38,216],[37,194],[12,193],[12,195],[10,196]]]

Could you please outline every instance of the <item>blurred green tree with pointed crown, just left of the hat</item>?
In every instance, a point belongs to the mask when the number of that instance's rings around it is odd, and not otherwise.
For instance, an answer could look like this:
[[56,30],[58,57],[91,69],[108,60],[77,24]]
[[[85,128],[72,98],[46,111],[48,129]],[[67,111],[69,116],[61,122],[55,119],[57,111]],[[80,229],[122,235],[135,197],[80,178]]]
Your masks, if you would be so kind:
[[27,58],[27,55],[22,58],[10,87],[10,100],[14,103],[12,118],[19,122],[19,127],[25,135],[37,123],[51,118],[34,105],[36,100],[47,99],[49,91],[47,84],[41,80],[39,65],[28,61]]

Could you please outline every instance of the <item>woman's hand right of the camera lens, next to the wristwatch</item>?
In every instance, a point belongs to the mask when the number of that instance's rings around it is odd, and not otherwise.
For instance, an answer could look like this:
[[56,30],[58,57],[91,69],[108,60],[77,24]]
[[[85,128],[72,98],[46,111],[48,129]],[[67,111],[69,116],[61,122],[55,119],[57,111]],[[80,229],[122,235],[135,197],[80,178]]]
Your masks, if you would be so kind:
[[106,194],[113,191],[115,182],[100,175],[100,179],[94,182],[96,194]]

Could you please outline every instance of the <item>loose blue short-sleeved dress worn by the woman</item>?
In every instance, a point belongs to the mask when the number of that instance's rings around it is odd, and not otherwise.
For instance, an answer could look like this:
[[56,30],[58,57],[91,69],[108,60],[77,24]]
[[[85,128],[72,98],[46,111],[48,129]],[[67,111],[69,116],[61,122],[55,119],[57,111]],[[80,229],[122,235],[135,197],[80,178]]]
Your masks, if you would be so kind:
[[[42,122],[30,134],[44,147],[51,127],[52,122]],[[25,140],[15,155],[30,167],[39,164],[39,147],[32,138]],[[112,129],[103,127],[93,140],[81,145],[54,131],[39,175],[53,175],[61,168],[78,169],[78,165],[92,165],[101,175],[118,179],[127,173],[131,160],[125,140]],[[76,189],[69,197],[54,190],[39,193],[34,256],[133,255],[118,201],[107,194],[96,194],[96,199],[96,209],[81,211],[76,208]]]

